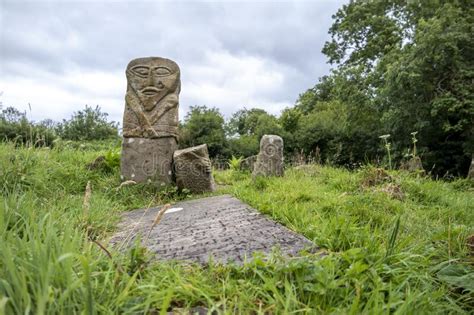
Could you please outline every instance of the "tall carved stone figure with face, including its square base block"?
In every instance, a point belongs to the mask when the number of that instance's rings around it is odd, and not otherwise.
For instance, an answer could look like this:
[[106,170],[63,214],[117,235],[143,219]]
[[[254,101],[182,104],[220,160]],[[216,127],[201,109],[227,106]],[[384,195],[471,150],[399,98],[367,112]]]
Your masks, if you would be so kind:
[[165,58],[138,58],[126,76],[122,179],[170,184],[178,148],[179,67]]

